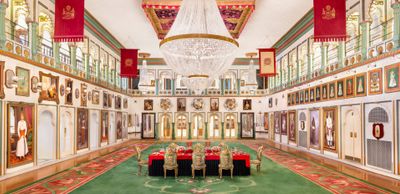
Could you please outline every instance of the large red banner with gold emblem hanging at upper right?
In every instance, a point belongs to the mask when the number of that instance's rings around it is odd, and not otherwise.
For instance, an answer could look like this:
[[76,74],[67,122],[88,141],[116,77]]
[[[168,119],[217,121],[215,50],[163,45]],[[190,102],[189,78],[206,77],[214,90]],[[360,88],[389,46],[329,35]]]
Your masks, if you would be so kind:
[[314,0],[314,41],[346,41],[346,0]]

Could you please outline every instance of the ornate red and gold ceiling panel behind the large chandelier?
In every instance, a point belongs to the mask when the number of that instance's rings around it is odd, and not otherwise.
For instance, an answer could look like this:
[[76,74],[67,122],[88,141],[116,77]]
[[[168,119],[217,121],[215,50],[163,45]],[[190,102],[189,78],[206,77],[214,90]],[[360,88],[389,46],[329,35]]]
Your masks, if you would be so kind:
[[[143,0],[142,8],[159,39],[163,39],[175,21],[181,0]],[[217,0],[226,28],[238,39],[255,9],[255,0]]]

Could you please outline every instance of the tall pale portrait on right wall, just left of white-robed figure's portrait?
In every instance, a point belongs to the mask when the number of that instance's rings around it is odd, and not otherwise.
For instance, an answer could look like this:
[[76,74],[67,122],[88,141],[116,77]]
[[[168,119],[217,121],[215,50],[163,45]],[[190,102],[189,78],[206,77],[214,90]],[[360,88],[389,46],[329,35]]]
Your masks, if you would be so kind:
[[310,147],[320,150],[320,123],[319,123],[319,110],[310,110]]

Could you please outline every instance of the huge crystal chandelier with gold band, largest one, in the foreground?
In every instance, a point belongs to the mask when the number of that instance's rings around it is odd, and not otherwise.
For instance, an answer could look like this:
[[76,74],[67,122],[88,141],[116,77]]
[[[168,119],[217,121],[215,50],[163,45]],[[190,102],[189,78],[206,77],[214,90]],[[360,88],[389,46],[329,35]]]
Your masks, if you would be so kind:
[[183,0],[171,30],[160,42],[167,65],[183,76],[196,95],[232,65],[238,47],[215,0]]

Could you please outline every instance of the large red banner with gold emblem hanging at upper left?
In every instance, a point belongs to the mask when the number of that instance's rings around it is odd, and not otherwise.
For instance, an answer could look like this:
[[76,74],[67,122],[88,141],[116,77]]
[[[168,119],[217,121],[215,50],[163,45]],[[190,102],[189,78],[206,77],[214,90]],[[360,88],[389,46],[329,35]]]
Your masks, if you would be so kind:
[[85,24],[84,0],[56,0],[55,42],[82,42]]

